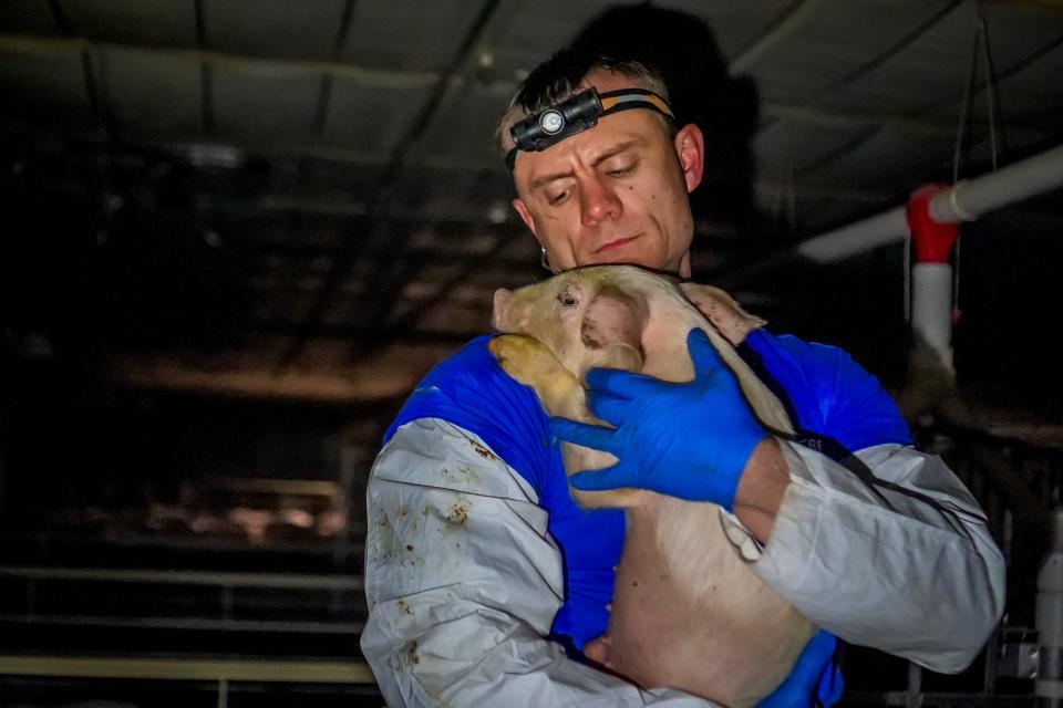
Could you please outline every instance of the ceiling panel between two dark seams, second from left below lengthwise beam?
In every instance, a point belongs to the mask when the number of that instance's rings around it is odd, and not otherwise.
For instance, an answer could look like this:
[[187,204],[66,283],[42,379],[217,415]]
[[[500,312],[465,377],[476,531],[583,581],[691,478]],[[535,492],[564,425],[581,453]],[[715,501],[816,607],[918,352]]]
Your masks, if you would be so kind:
[[101,58],[101,84],[120,132],[164,137],[202,133],[199,62],[124,50]]

